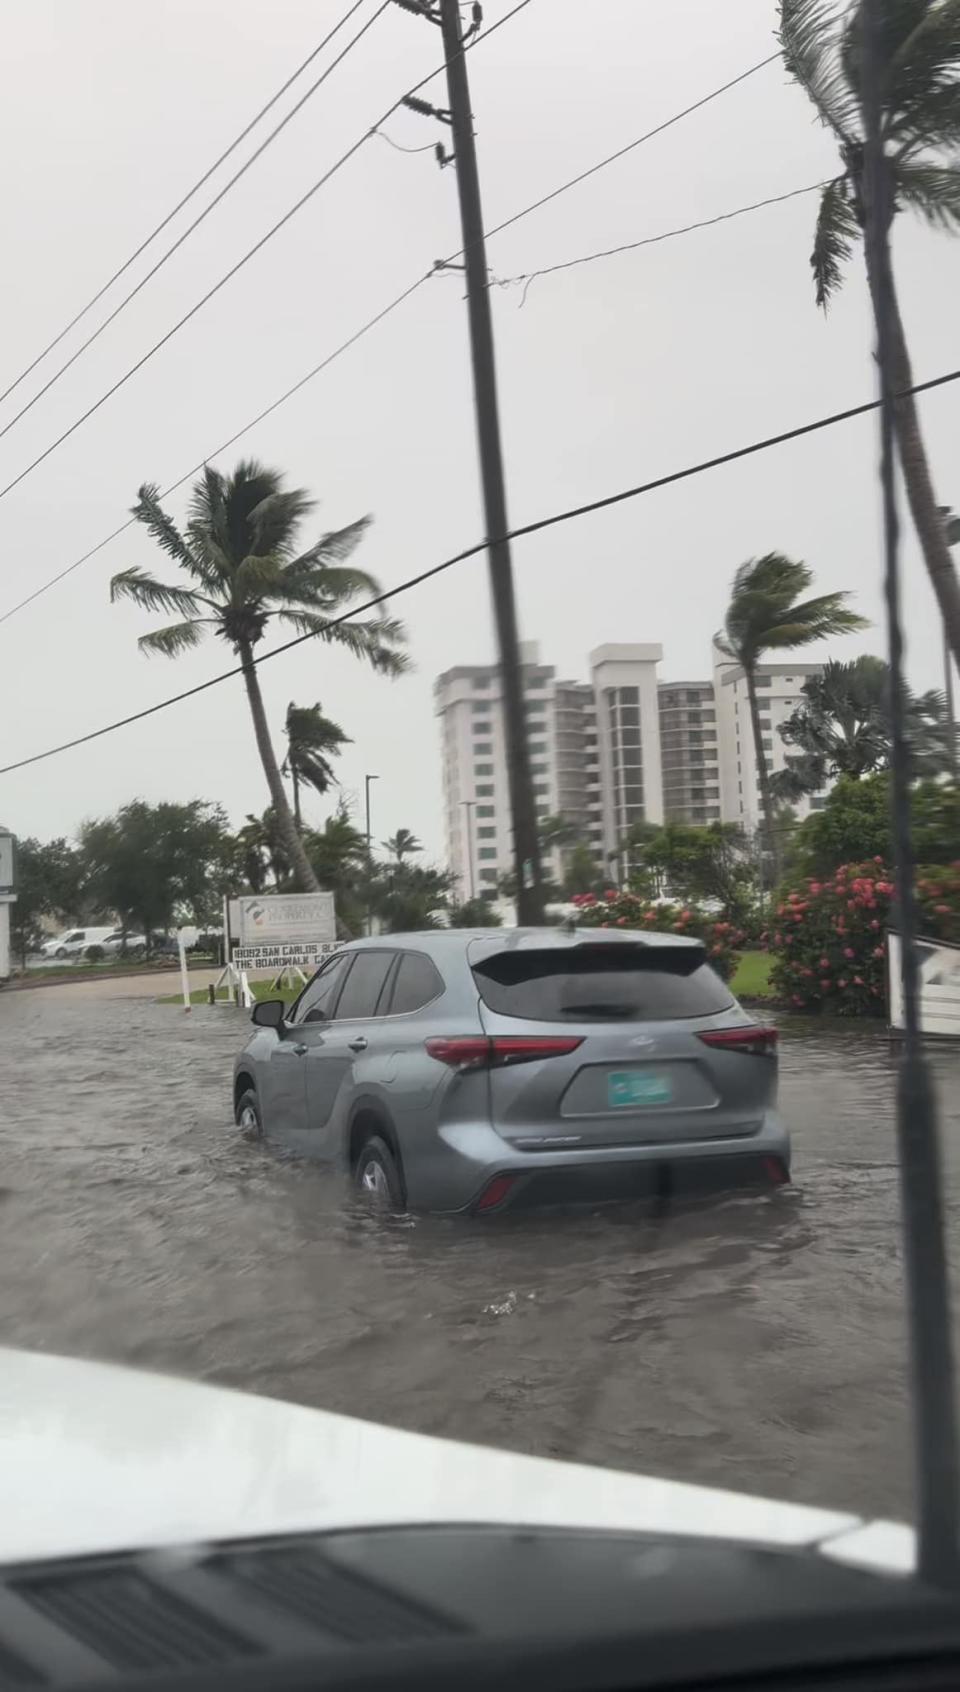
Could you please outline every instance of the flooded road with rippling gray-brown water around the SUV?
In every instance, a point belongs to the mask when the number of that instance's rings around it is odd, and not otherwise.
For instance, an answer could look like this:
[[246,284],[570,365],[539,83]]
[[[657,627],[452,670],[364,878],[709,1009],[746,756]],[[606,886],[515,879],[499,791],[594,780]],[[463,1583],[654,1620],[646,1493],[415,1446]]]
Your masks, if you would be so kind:
[[[786,1030],[796,1184],[775,1196],[378,1222],[320,1167],[237,1137],[240,1014],[108,993],[0,997],[0,1343],[908,1513],[882,1032]],[[955,1232],[960,1052],[931,1061]]]

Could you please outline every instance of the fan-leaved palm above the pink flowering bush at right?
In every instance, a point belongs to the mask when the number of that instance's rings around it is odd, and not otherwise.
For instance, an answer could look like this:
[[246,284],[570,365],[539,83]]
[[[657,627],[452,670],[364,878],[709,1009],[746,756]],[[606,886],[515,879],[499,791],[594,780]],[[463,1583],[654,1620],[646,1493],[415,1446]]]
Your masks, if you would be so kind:
[[[950,734],[943,695],[906,692],[906,729],[914,777],[950,770]],[[781,736],[797,755],[770,778],[777,799],[803,799],[828,780],[858,780],[891,765],[891,667],[869,655],[852,663],[830,662],[823,675],[803,685],[803,702],[781,724]]]

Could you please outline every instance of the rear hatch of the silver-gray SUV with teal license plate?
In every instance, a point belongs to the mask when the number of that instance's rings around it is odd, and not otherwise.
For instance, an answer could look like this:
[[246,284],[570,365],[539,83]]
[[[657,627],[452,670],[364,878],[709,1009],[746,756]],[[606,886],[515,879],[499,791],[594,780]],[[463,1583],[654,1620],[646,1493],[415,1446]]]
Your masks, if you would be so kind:
[[505,936],[474,942],[471,968],[491,1122],[525,1151],[745,1137],[774,1101],[775,1032],[699,942]]

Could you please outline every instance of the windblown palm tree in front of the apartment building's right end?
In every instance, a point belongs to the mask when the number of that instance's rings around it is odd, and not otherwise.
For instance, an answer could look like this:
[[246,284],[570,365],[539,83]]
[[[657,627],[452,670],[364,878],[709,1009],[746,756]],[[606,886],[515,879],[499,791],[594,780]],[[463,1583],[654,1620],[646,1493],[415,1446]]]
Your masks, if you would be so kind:
[[781,854],[774,834],[774,794],[770,768],[760,733],[760,706],[757,700],[757,665],[765,651],[792,651],[809,646],[828,634],[850,634],[867,626],[865,618],[845,606],[847,594],[818,594],[801,599],[813,582],[813,570],[781,552],[767,552],[762,558],[748,558],[733,577],[733,591],[726,609],[726,623],[716,636],[716,645],[735,658],[747,682],[750,702],[750,728],[757,748],[757,773],[760,802],[774,871],[779,880]]

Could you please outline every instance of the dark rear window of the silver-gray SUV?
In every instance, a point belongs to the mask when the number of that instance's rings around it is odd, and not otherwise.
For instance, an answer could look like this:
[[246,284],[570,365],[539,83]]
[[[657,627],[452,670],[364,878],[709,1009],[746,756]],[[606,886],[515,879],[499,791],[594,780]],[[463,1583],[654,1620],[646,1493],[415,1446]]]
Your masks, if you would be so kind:
[[555,946],[474,964],[484,1005],[530,1022],[711,1017],[733,997],[694,946]]

